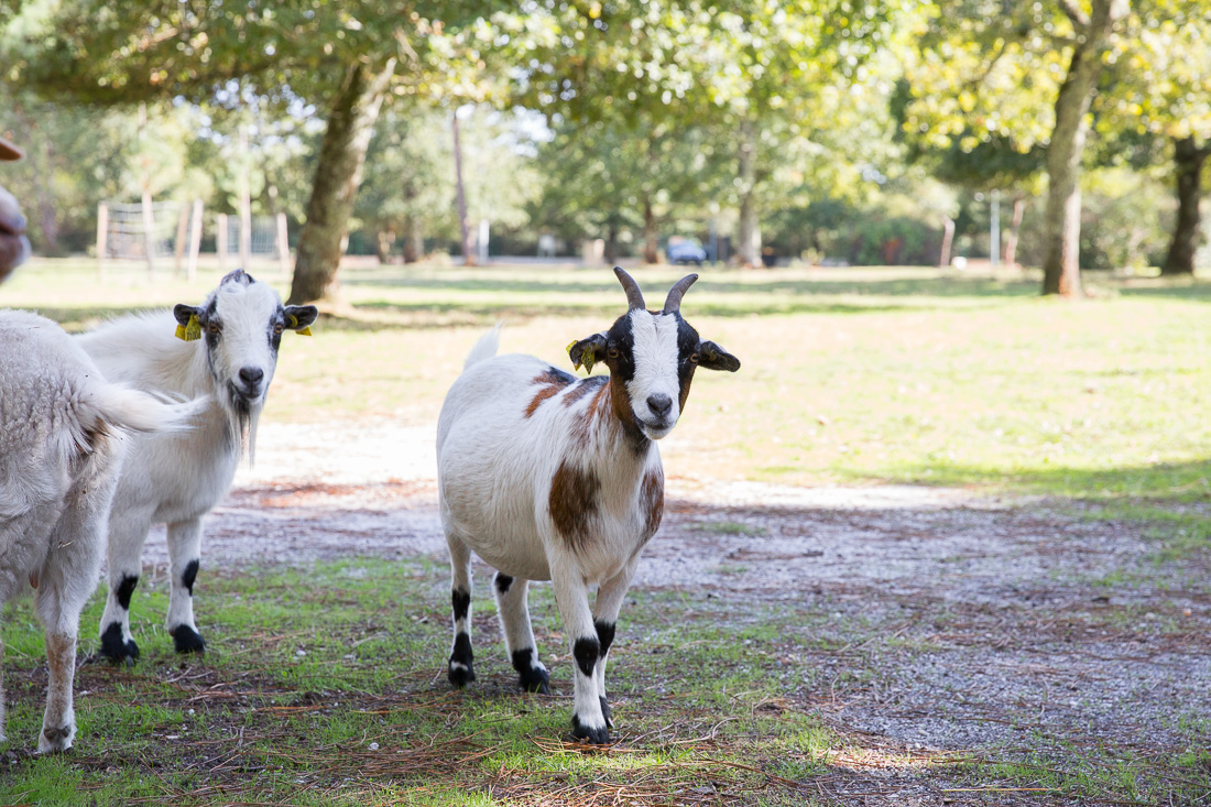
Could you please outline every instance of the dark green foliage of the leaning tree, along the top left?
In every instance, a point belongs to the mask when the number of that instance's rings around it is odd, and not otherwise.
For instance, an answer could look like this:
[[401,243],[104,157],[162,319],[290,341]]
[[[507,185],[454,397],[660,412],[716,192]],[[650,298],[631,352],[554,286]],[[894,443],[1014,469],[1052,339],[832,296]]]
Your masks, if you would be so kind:
[[[58,98],[132,103],[223,101],[233,82],[282,104],[326,103],[349,64],[396,57],[397,91],[425,93],[452,67],[448,32],[492,4],[381,0],[271,5],[31,0],[0,40],[6,79]],[[455,59],[457,61],[457,59]],[[450,80],[457,73],[449,73]]]

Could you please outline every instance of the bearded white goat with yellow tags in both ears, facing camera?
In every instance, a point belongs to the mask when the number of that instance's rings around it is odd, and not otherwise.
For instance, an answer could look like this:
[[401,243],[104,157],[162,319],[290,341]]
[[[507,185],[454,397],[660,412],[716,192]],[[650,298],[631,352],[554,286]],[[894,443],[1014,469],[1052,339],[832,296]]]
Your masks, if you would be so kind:
[[177,652],[205,652],[193,600],[202,516],[231,486],[245,439],[252,457],[282,332],[310,333],[316,315],[314,305],[283,307],[270,286],[236,270],[199,307],[127,316],[79,337],[107,378],[212,396],[195,430],[132,441],[109,516],[109,597],[101,619],[101,652],[109,659],[133,664],[139,657],[131,595],[148,530],[160,522],[168,525],[168,634]]

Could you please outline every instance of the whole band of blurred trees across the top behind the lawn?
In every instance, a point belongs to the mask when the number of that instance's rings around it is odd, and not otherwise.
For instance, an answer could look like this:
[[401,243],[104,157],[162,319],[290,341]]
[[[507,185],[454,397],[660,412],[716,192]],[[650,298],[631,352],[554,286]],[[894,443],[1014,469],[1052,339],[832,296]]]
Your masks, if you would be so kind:
[[481,222],[498,253],[937,264],[987,254],[994,198],[998,258],[1077,294],[1081,267],[1206,259],[1209,42],[1194,0],[23,0],[0,130],[40,251],[87,248],[103,200],[247,193],[302,227],[295,302],[346,248],[471,253]]

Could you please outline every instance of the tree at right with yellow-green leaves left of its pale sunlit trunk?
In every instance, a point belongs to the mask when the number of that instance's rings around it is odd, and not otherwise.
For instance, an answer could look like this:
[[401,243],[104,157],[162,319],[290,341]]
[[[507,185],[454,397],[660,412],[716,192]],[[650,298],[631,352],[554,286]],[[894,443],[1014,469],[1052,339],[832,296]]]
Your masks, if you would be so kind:
[[966,150],[1001,137],[1046,148],[1044,294],[1080,293],[1080,166],[1087,114],[1107,55],[1138,25],[1127,0],[926,8],[923,50],[908,69],[905,126]]

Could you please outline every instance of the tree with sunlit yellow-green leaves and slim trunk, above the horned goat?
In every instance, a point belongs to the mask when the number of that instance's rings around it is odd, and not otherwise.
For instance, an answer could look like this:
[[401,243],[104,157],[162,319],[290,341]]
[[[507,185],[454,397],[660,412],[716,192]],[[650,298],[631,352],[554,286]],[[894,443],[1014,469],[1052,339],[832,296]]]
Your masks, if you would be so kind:
[[[545,24],[501,23],[529,68],[520,98],[574,125],[608,121],[655,133],[710,126],[733,143],[730,196],[741,258],[756,263],[769,181],[823,150],[823,131],[853,104],[849,90],[894,30],[896,2],[568,4]],[[642,170],[642,168],[641,168]],[[770,194],[773,195],[773,194]]]

